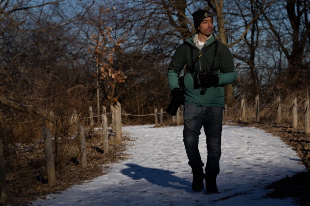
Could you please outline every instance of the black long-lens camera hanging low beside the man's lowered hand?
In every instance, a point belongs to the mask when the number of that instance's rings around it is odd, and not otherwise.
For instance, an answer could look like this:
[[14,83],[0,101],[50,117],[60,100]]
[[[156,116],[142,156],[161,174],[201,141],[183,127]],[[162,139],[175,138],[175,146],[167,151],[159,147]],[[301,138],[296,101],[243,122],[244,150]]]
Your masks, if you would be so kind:
[[175,88],[174,91],[171,91],[172,93],[172,99],[166,109],[166,112],[172,116],[175,116],[178,108],[181,104],[184,104],[184,76],[179,77],[179,86],[180,88]]

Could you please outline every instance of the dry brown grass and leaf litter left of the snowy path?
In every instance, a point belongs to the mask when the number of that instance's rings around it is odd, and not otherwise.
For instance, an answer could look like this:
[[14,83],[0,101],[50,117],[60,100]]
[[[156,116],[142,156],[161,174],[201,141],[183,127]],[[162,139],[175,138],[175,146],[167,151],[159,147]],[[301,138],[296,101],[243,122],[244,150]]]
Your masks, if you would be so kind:
[[86,138],[86,168],[78,164],[79,151],[76,141],[58,147],[60,158],[55,160],[57,183],[54,186],[47,184],[42,146],[28,151],[10,151],[10,158],[6,159],[9,197],[3,206],[23,206],[38,197],[44,198],[47,194],[64,191],[75,184],[104,175],[109,170],[109,164],[127,158],[123,152],[131,141],[130,137],[123,135],[121,143],[117,144],[114,135],[110,135],[109,154],[103,152],[101,145],[98,146],[98,140],[98,136]]

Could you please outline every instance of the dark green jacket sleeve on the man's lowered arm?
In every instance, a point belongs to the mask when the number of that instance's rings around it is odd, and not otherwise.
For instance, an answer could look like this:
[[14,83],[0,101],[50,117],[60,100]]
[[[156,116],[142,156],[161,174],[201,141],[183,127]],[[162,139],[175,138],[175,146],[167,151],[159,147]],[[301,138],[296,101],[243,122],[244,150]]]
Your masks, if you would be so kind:
[[181,44],[173,54],[168,66],[168,84],[170,91],[179,88],[178,78],[185,65],[185,45]]

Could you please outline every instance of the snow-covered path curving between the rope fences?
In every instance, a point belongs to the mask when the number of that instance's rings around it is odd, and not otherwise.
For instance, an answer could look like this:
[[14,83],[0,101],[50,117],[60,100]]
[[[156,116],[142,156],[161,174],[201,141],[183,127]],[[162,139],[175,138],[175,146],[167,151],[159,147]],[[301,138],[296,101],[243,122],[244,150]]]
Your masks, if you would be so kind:
[[[219,194],[191,190],[192,174],[182,126],[126,126],[135,139],[127,160],[110,165],[107,175],[32,202],[34,206],[293,206],[292,199],[266,198],[264,186],[305,171],[279,137],[251,127],[223,125]],[[199,149],[206,161],[205,136]]]

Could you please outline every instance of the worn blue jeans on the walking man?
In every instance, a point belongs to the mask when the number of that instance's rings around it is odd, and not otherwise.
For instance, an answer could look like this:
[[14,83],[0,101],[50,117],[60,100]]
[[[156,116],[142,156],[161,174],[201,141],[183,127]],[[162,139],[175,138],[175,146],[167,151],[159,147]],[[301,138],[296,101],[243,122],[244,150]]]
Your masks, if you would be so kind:
[[198,142],[200,130],[203,126],[206,135],[207,163],[206,174],[219,174],[219,160],[221,157],[221,136],[223,122],[222,107],[198,107],[186,104],[184,107],[183,141],[191,167],[203,167]]

